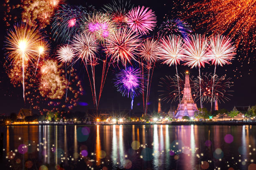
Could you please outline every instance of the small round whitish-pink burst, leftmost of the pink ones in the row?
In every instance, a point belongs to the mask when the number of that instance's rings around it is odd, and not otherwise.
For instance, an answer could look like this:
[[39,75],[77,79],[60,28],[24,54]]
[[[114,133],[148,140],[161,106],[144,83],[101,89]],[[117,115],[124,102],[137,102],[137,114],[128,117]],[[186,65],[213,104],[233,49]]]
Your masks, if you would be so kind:
[[75,52],[73,47],[70,45],[62,45],[59,50],[57,50],[57,59],[61,62],[72,62],[75,57]]

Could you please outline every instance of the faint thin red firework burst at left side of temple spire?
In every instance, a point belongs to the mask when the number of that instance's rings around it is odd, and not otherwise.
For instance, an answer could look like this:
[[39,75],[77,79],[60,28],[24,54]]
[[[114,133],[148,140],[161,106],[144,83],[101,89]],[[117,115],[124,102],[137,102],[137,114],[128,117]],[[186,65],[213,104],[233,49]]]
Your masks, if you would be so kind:
[[[179,83],[178,83],[179,82]],[[196,87],[194,83],[194,77],[189,77],[189,83],[191,87],[192,97],[196,97]],[[160,97],[166,102],[177,102],[179,98],[182,98],[183,90],[185,85],[185,75],[180,73],[179,77],[165,76],[161,77],[159,81]],[[180,90],[179,90],[180,88]]]

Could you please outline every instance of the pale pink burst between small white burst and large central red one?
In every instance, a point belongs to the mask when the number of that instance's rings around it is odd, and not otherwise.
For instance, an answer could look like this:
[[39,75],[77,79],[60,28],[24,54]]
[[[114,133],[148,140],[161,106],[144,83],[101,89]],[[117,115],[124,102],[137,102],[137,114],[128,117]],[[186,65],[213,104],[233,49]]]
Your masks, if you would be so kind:
[[72,47],[78,57],[86,64],[87,60],[92,60],[99,50],[97,39],[88,33],[77,34],[72,40]]

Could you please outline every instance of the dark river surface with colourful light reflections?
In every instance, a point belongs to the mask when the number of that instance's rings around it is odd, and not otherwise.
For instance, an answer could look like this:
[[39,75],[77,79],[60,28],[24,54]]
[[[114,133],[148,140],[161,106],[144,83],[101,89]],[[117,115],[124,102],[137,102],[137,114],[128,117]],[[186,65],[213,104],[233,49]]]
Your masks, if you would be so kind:
[[0,132],[3,169],[256,169],[253,125],[24,125]]

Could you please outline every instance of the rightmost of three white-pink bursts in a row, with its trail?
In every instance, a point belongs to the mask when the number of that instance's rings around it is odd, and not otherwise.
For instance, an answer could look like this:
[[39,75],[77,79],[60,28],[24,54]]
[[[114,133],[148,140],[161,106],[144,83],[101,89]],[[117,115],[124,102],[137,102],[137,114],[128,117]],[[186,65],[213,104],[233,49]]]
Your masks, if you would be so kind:
[[[230,64],[231,60],[233,60],[234,55],[236,55],[236,47],[234,47],[231,43],[231,39],[228,37],[224,37],[222,35],[215,35],[214,37],[210,38],[210,50],[209,50],[209,57],[212,58],[212,65],[215,65],[214,74],[213,74],[213,82],[215,79],[215,72],[217,65],[221,67],[225,64]],[[213,94],[213,87],[214,83],[212,84],[212,94]],[[212,95],[213,97],[213,95]],[[211,111],[212,111],[212,99],[211,99]]]

